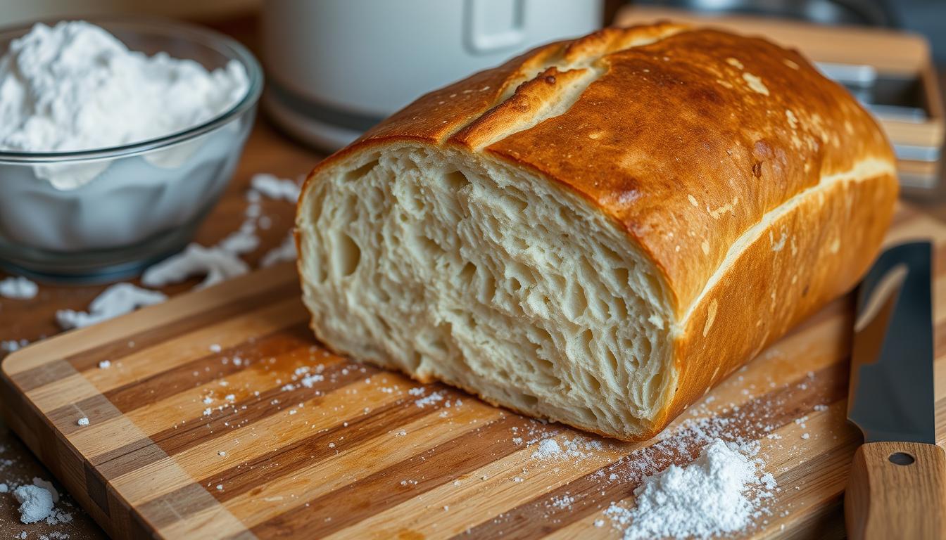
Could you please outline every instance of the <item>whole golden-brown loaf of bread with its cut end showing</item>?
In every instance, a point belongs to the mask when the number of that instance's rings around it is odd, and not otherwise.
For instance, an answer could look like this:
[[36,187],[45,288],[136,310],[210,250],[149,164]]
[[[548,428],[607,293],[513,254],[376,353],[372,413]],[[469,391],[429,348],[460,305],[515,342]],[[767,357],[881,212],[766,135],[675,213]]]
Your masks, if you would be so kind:
[[305,302],[336,352],[649,438],[855,285],[894,163],[796,51],[606,28],[422,96],[318,165]]

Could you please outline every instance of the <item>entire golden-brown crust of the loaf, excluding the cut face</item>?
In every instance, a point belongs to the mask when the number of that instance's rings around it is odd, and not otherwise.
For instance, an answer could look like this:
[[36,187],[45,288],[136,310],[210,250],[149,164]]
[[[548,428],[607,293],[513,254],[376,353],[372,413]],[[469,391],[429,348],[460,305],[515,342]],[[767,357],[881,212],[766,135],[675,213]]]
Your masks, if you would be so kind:
[[[876,122],[796,51],[670,23],[545,45],[434,91],[308,182],[351,152],[409,139],[561,183],[662,270],[681,325],[677,389],[648,435],[852,287],[897,195]],[[825,184],[866,162],[880,164],[862,167],[871,178]],[[790,200],[714,281],[733,246]]]

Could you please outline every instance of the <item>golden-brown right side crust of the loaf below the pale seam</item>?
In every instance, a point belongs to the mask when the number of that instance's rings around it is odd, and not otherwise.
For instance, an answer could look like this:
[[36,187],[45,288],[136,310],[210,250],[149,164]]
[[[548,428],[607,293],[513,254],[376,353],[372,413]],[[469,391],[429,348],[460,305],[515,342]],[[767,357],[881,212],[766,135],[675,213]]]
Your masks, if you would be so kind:
[[892,174],[832,183],[776,220],[728,266],[674,340],[676,392],[650,435],[854,287],[893,218],[898,188]]

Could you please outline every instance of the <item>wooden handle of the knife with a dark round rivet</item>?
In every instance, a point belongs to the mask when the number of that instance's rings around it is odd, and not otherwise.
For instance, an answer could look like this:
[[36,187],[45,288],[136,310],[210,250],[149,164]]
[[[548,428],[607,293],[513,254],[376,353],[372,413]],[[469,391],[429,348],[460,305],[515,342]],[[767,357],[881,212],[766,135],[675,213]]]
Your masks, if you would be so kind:
[[854,453],[844,521],[853,540],[946,538],[946,454],[936,444],[867,443]]

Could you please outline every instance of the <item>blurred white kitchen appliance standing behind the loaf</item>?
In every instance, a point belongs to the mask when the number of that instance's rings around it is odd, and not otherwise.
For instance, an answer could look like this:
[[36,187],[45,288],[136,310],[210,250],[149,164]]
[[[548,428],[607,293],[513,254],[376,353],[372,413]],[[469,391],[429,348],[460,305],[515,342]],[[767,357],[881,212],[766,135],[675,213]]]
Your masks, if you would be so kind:
[[336,149],[414,98],[535,45],[587,34],[601,0],[267,0],[264,106]]

